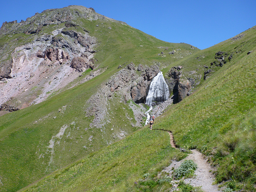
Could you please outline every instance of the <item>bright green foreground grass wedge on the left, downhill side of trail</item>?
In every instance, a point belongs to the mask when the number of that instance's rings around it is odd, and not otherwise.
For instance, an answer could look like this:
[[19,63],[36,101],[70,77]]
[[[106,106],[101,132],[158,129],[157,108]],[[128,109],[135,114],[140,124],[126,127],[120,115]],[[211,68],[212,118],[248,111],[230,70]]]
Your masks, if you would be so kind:
[[171,147],[168,133],[143,128],[20,191],[139,191],[145,173],[155,176],[186,155]]

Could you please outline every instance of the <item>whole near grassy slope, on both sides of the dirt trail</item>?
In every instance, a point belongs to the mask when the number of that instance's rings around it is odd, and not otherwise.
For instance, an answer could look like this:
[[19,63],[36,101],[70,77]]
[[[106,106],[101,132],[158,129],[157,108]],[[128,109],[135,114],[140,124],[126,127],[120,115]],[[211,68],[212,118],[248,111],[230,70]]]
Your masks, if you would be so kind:
[[[215,52],[232,52],[236,47],[242,50],[194,94],[156,118],[153,128],[172,131],[180,147],[197,148],[212,155],[212,163],[218,166],[217,181],[231,179],[228,186],[233,190],[255,191],[256,30],[244,33],[244,38],[232,44],[227,40],[196,53],[211,55],[207,65]],[[247,55],[248,51],[253,52]],[[189,62],[193,60],[175,64]],[[158,145],[165,150],[164,155]],[[144,128],[21,191],[168,191],[166,184],[154,186],[152,180],[147,188],[140,180],[145,173],[156,178],[158,171],[173,159],[176,150],[169,147],[167,133]]]

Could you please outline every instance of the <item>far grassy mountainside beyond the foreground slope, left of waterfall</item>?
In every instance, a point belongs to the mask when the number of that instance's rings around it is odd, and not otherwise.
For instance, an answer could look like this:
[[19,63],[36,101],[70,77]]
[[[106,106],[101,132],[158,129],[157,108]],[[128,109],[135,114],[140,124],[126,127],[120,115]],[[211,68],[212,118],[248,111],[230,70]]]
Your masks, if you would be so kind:
[[[178,47],[184,52],[184,56],[188,52],[197,51],[191,50],[188,44],[163,42],[116,22],[82,19],[79,22],[82,28],[90,31],[90,35],[97,37],[101,42],[97,47],[100,51],[96,53],[95,58],[100,64],[99,68],[108,69],[94,79],[52,96],[47,101],[0,117],[2,191],[16,191],[93,150],[116,141],[110,131],[113,126],[114,131],[118,130],[119,126],[128,133],[138,129],[132,127],[126,118],[126,115],[133,115],[132,111],[124,103],[120,103],[118,97],[109,102],[111,109],[108,113],[114,117],[115,122],[105,125],[104,132],[89,126],[93,117],[85,117],[87,100],[97,92],[100,84],[118,71],[119,65],[133,61],[135,65],[160,62],[167,66],[178,60],[168,57],[169,55],[166,58],[157,56],[162,52],[157,48],[159,46]],[[96,24],[100,26],[96,27]],[[53,31],[63,25],[45,26],[40,33]],[[75,30],[82,32],[82,28],[77,27]],[[58,112],[59,109],[61,112]],[[58,132],[65,127],[63,136],[57,138]],[[89,140],[91,136],[92,141]],[[53,149],[48,148],[51,139],[55,142]]]

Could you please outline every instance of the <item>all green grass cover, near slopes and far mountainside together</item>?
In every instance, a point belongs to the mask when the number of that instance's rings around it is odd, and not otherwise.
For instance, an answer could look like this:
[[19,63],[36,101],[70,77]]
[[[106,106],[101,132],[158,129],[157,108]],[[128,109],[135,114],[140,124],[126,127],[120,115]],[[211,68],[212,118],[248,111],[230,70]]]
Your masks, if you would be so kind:
[[[165,131],[173,133],[178,147],[209,157],[217,167],[216,183],[228,180],[233,191],[256,191],[256,27],[198,50],[163,42],[121,21],[78,17],[72,22],[77,26],[70,29],[97,38],[94,58],[98,68],[107,70],[69,89],[78,77],[46,101],[0,116],[0,191],[170,191],[172,178],[160,172],[189,152],[172,148]],[[46,25],[40,33],[64,27],[65,22]],[[38,35],[19,30],[1,35],[0,42],[25,36],[24,44]],[[14,42],[13,49],[19,44]],[[168,54],[172,50],[179,51]],[[169,70],[179,65],[187,78],[194,71],[202,77],[190,96],[156,118],[153,130],[132,126],[130,101],[120,102],[118,92],[107,100],[104,125],[92,126],[94,116],[87,109],[93,101],[88,101],[102,92],[119,65],[131,62],[157,65],[167,80]],[[126,134],[122,140],[113,137],[120,131]]]

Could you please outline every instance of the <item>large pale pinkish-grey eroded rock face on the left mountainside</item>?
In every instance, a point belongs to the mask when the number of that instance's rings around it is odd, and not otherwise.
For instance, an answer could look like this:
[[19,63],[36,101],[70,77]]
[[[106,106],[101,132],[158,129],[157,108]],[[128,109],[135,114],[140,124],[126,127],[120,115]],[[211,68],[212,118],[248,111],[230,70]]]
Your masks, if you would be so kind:
[[[77,72],[97,68],[97,60],[93,58],[96,38],[73,31],[78,34],[76,39],[61,33],[61,30],[52,31],[51,35],[37,35],[30,43],[16,47],[10,60],[2,59],[0,80],[5,83],[2,84],[0,104],[4,104],[11,96],[26,98],[17,104],[19,108],[39,103],[47,98],[49,92],[66,86],[79,76]],[[79,44],[78,40],[85,47]],[[92,74],[90,78],[93,76]],[[39,84],[40,86],[32,91],[33,94],[28,94],[33,86]],[[42,93],[36,95],[39,90]],[[15,108],[8,111],[13,110]]]

